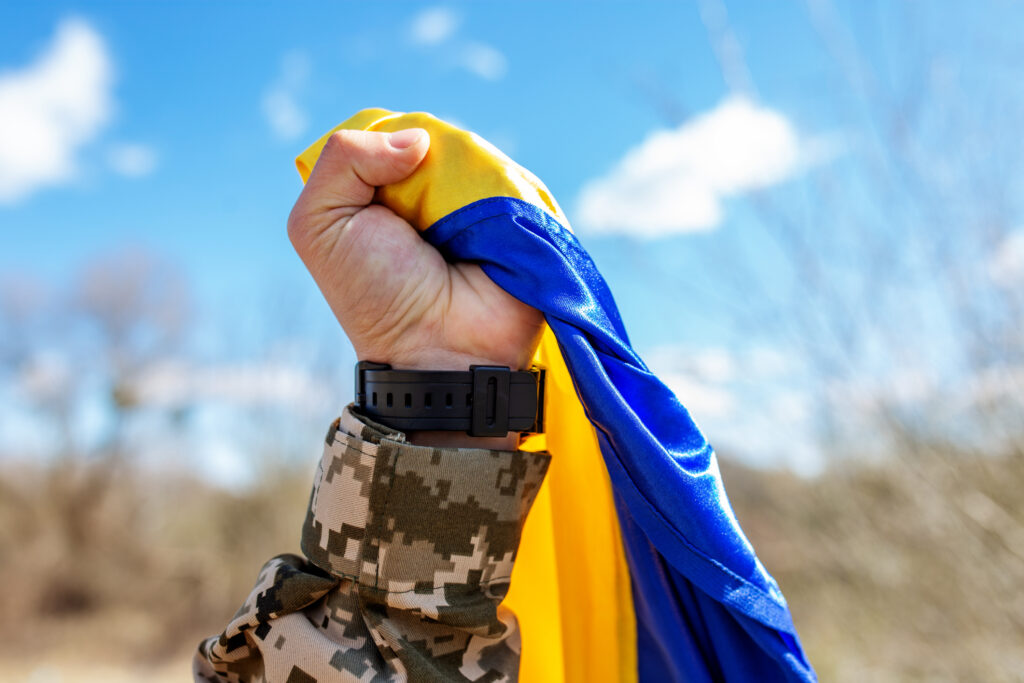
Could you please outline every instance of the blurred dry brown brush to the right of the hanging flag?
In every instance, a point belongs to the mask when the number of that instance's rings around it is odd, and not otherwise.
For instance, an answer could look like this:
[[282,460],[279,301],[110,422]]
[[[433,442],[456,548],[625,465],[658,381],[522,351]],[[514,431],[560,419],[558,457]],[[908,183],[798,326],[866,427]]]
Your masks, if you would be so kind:
[[1024,456],[723,466],[823,681],[1019,681]]

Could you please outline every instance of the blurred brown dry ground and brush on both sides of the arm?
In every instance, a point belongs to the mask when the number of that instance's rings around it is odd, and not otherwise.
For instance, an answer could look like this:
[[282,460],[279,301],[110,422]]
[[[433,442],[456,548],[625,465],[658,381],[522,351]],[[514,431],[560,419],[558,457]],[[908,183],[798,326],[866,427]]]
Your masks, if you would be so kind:
[[[5,472],[0,678],[186,680],[261,563],[297,551],[312,468],[244,495],[81,463]],[[1024,680],[1024,456],[723,469],[823,681]]]

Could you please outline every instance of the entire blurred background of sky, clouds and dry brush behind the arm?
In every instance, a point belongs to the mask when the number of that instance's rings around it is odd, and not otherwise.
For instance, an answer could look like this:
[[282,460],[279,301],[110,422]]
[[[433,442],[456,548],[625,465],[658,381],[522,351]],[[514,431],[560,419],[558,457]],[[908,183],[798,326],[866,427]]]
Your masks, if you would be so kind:
[[187,680],[352,355],[285,232],[367,106],[560,198],[826,681],[1024,680],[1019,2],[0,4],[0,679]]

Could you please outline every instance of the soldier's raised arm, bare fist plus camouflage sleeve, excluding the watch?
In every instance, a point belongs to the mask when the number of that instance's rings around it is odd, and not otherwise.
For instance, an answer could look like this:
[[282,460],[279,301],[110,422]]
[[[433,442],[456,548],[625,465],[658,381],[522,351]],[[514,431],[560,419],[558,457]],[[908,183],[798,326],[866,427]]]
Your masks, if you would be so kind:
[[[525,369],[544,318],[479,266],[446,263],[372,204],[429,146],[422,129],[340,131],[288,230],[357,357],[396,369]],[[515,680],[515,615],[500,606],[549,456],[518,434],[402,433],[345,409],[328,431],[302,529],[305,558],[264,565],[199,681]]]

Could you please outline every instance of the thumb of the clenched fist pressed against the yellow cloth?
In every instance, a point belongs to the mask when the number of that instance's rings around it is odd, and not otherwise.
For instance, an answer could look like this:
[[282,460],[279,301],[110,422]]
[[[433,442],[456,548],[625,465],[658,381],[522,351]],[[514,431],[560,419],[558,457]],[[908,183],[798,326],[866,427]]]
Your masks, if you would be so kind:
[[[303,195],[312,211],[369,205],[377,185],[403,180],[427,154],[430,136],[422,128],[394,133],[339,130],[324,145]],[[302,198],[300,198],[300,201]]]

